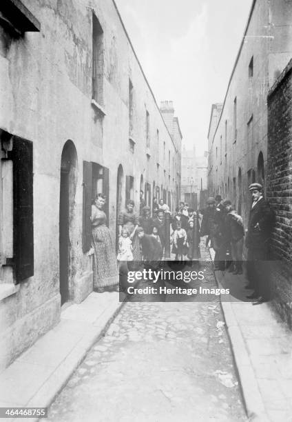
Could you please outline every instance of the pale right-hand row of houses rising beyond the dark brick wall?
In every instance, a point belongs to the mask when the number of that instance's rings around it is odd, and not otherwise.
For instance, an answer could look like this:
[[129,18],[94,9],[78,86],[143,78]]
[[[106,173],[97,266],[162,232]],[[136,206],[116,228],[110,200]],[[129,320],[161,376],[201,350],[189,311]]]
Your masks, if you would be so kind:
[[230,197],[244,225],[249,183],[266,190],[267,94],[291,58],[291,34],[291,1],[253,0],[224,103],[212,106],[209,193]]

